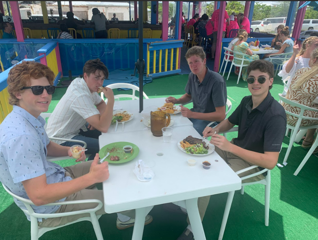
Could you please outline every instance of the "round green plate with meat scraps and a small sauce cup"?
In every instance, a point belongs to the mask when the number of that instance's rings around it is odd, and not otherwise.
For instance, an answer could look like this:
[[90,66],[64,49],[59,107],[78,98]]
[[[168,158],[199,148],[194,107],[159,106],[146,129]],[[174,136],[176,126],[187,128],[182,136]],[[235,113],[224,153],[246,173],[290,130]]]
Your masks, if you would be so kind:
[[[126,145],[130,145],[133,147],[133,153],[125,153],[123,147]],[[133,160],[138,156],[139,148],[134,143],[128,142],[116,142],[109,143],[106,146],[102,147],[99,151],[100,159],[106,156],[107,152],[109,152],[109,156],[105,158],[105,161],[108,163],[126,163]],[[110,161],[110,156],[118,156],[119,161]],[[124,159],[127,157],[126,159]]]

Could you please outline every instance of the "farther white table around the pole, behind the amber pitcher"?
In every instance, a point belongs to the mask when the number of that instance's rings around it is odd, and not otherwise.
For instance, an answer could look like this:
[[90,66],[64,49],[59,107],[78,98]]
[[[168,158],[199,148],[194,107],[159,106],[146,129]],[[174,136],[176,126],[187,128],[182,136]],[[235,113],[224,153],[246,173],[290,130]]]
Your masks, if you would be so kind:
[[[146,109],[149,106],[161,107],[165,103],[165,99],[165,97],[143,99],[143,109]],[[115,104],[122,107],[122,111],[126,110],[134,115],[132,120],[124,124],[123,132],[140,131],[147,128],[147,126],[141,122],[142,116],[139,113],[139,100],[123,100],[115,102]],[[183,117],[181,115],[181,112],[177,114],[171,114],[170,117],[174,121],[172,127],[193,126],[192,122],[187,117]],[[111,124],[107,133],[102,134],[115,133],[115,127],[116,124]],[[116,133],[120,132],[122,132],[122,123],[118,123],[117,126]]]

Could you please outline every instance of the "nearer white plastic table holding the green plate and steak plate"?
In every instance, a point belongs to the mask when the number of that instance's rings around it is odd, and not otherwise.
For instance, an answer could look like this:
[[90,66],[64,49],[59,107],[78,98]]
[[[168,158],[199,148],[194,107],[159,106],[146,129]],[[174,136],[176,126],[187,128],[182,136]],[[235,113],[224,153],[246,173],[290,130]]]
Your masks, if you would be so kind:
[[[145,217],[154,205],[175,203],[187,209],[195,239],[205,240],[197,199],[229,192],[231,206],[234,191],[241,189],[241,179],[213,152],[207,156],[195,156],[197,164],[190,167],[188,158],[177,147],[177,142],[192,135],[200,137],[192,126],[175,127],[171,143],[163,143],[163,137],[155,137],[150,130],[117,132],[99,137],[100,148],[114,142],[126,141],[136,144],[139,155],[132,161],[122,164],[109,164],[110,177],[103,182],[105,212],[115,213],[136,210],[133,240],[141,240]],[[162,153],[163,156],[157,156]],[[141,182],[133,170],[138,159],[153,160],[155,177],[150,182]],[[205,170],[202,162],[208,160],[211,168]],[[216,161],[217,160],[217,161]],[[230,207],[224,212],[219,239],[222,239]],[[167,213],[169,214],[169,213]]]

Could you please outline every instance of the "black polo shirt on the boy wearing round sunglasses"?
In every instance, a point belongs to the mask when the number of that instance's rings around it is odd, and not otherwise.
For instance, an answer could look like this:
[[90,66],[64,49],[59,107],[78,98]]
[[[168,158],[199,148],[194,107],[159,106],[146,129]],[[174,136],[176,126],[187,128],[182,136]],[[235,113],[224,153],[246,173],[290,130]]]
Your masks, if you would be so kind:
[[259,153],[280,152],[287,123],[283,106],[270,92],[257,108],[252,110],[252,106],[252,96],[244,97],[228,118],[230,123],[239,126],[234,144]]

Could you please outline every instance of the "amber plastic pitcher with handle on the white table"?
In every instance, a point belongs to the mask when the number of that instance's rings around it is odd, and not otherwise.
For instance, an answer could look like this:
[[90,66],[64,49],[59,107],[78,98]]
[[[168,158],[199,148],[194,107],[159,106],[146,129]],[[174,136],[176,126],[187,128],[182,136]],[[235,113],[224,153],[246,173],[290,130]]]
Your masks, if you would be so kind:
[[[168,119],[167,119],[168,117]],[[170,115],[162,111],[150,112],[150,130],[156,137],[162,136],[162,128],[170,124]]]

